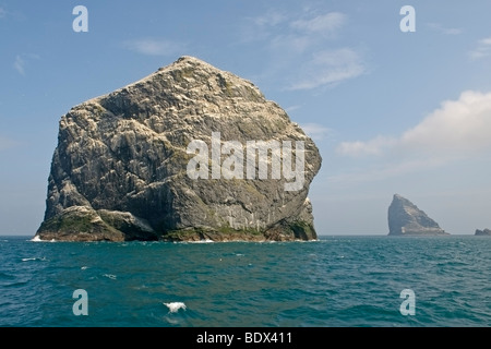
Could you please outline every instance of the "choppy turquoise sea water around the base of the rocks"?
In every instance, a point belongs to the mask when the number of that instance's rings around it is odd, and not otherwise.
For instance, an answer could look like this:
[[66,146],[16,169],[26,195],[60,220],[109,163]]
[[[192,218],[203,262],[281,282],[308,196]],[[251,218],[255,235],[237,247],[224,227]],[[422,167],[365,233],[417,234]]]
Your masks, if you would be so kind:
[[[491,326],[489,237],[29,239],[0,237],[0,326]],[[400,312],[405,289],[415,315]],[[74,315],[81,300],[88,315]]]

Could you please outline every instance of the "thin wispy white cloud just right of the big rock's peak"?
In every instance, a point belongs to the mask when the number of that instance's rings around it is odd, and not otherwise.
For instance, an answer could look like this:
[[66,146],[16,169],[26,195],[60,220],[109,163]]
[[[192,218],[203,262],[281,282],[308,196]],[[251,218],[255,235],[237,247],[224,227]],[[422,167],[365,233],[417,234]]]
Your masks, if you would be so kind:
[[350,48],[315,52],[313,58],[300,68],[300,76],[288,89],[312,89],[334,85],[357,77],[366,72],[360,55]]

